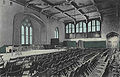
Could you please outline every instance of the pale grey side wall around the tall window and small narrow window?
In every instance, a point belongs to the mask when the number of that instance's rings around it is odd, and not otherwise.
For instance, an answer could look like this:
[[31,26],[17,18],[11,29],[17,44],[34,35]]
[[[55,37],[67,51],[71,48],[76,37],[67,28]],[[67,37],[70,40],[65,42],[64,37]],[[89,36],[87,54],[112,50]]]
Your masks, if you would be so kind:
[[[50,39],[54,38],[54,30],[56,27],[59,28],[60,32],[60,41],[64,40],[64,24],[62,22],[58,22],[54,19],[49,19],[45,15],[34,11],[32,9],[25,8],[19,4],[13,3],[13,5],[10,6],[9,0],[5,0],[5,4],[3,4],[3,0],[0,0],[0,47],[3,45],[11,45],[13,40],[13,31],[14,31],[14,44],[20,44],[20,29],[16,27],[20,26],[20,22],[22,17],[24,15],[21,15],[21,17],[18,15],[17,19],[14,19],[14,16],[16,17],[18,13],[31,13],[37,15],[40,20],[43,20],[44,25],[47,27],[45,30],[43,30],[43,33],[41,33],[40,29],[42,24],[40,24],[38,21],[31,18],[33,22],[33,26],[36,27],[36,32],[34,32],[34,44],[40,44],[40,43],[50,43]],[[14,22],[16,23],[14,23]],[[13,30],[13,24],[14,24],[14,30]],[[39,27],[39,30],[37,30]],[[45,33],[46,35],[45,35]],[[39,36],[39,37],[38,37]]]

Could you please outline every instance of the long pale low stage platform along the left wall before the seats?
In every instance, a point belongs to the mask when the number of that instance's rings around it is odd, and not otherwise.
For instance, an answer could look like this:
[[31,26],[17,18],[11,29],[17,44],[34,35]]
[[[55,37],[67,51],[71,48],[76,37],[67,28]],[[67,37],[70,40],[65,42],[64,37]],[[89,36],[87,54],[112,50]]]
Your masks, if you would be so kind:
[[31,56],[31,55],[53,53],[53,52],[61,52],[65,50],[66,49],[29,50],[29,51],[18,51],[18,52],[12,52],[12,53],[2,53],[0,55],[2,55],[2,58],[4,61],[9,61],[10,58],[25,57],[25,56]]

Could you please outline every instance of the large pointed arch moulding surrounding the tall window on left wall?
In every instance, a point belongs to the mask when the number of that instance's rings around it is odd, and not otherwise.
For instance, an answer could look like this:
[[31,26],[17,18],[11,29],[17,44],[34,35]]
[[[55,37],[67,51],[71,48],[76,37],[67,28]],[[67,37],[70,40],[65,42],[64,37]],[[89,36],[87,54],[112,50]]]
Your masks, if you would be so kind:
[[[25,17],[28,16],[28,17],[34,19],[34,20],[35,20],[36,22],[38,22],[39,24],[42,24],[42,25],[41,25],[41,26],[42,26],[42,29],[39,28],[39,30],[40,30],[40,32],[42,32],[43,30],[45,30],[46,38],[44,38],[44,39],[46,39],[45,42],[47,43],[47,25],[46,25],[45,21],[42,20],[39,16],[37,16],[37,15],[35,15],[35,14],[33,14],[33,13],[19,12],[19,13],[15,14],[15,15],[14,15],[14,18],[13,18],[13,37],[12,37],[12,44],[13,44],[13,45],[16,45],[14,27],[15,27],[15,25],[16,25],[16,20],[19,20],[19,19],[17,18],[17,16],[19,16],[19,15],[23,15],[23,18],[22,18],[22,19],[24,19]],[[33,27],[33,31],[34,31],[34,27]],[[34,34],[33,34],[33,35],[34,35]],[[40,36],[40,38],[42,38],[42,36]],[[33,39],[33,41],[34,41],[34,39]],[[18,42],[17,42],[17,44],[18,44]],[[19,44],[20,44],[20,41],[19,41]]]

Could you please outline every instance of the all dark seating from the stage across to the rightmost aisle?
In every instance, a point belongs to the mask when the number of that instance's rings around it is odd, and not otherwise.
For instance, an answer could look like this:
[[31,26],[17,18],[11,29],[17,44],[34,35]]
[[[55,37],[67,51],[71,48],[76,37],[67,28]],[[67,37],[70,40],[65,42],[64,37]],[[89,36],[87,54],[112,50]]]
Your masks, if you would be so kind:
[[[11,58],[7,76],[41,77],[89,76],[106,49],[68,49],[67,51]],[[15,68],[14,68],[15,67]],[[17,67],[17,68],[16,68]],[[77,75],[77,76],[76,76]]]

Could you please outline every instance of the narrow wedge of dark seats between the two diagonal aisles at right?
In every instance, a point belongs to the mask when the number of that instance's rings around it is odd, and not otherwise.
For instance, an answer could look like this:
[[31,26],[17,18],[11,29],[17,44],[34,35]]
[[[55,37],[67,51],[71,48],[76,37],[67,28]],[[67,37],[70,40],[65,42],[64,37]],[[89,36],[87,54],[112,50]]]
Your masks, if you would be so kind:
[[95,67],[99,64],[98,60],[100,57],[102,57],[101,55],[101,53],[98,54],[92,60],[89,58],[89,61],[87,61],[81,67],[78,67],[75,71],[72,71],[70,77],[88,77],[95,69]]

